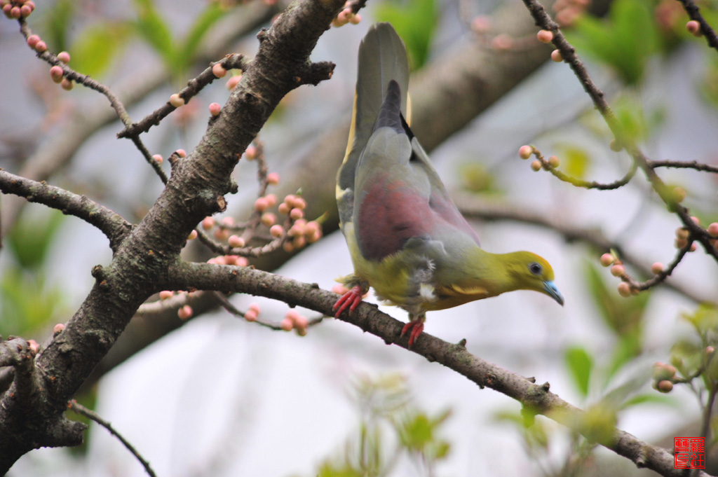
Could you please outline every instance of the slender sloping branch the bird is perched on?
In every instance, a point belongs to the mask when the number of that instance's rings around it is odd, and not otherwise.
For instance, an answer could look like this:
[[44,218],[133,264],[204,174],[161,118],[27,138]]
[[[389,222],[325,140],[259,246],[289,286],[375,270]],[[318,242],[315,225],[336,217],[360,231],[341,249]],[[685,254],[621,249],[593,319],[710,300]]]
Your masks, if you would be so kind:
[[[327,316],[332,315],[332,306],[337,300],[337,294],[321,290],[315,283],[302,283],[261,270],[228,265],[177,263],[170,268],[168,279],[169,285],[176,288],[249,293],[303,306]],[[407,347],[408,339],[400,337],[404,323],[378,311],[376,306],[363,303],[355,313],[343,313],[339,319],[378,336],[386,344]],[[549,383],[533,384],[525,377],[474,356],[467,351],[463,340],[460,344],[450,344],[424,333],[409,351],[424,356],[429,362],[443,364],[479,387],[490,387],[513,397],[531,412],[545,415],[590,438],[592,430],[583,424],[586,422],[584,412],[550,392]],[[651,468],[663,476],[684,476],[682,470],[673,468],[673,455],[668,450],[645,443],[623,430],[613,429],[610,438],[600,444],[633,461],[639,468]]]

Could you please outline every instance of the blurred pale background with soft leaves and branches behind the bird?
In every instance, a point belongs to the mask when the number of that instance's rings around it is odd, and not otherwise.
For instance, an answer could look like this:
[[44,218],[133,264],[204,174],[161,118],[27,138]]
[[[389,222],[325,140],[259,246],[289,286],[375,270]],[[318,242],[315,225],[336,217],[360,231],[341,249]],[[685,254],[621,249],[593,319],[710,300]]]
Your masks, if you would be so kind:
[[[686,32],[679,2],[588,1],[546,6],[625,130],[651,159],[717,166],[718,55]],[[70,52],[71,67],[118,93],[139,121],[210,61],[229,52],[251,57],[256,32],[285,7],[57,0],[39,2],[29,26],[51,51]],[[714,5],[701,7],[718,25]],[[712,422],[707,402],[718,389],[718,372],[704,366],[718,326],[718,311],[705,304],[718,297],[716,263],[699,248],[665,284],[618,295],[620,280],[600,267],[600,255],[616,247],[629,273],[645,280],[652,263],[673,259],[681,224],[640,172],[620,189],[587,191],[519,159],[518,148],[531,143],[546,157],[559,156],[559,169],[579,179],[607,183],[630,169],[628,155],[609,147],[610,131],[568,65],[551,62],[551,48],[536,40],[523,4],[372,1],[360,16],[359,24],[328,30],[312,54],[335,62],[332,79],[287,95],[259,135],[269,171],[281,177],[269,192],[281,200],[301,189],[307,218],[321,217],[325,236],[251,263],[325,289],[352,270],[337,232],[334,176],[358,44],[373,22],[392,22],[414,69],[414,132],[482,246],[542,255],[566,298],[561,308],[537,293],[510,293],[429,313],[425,331],[449,342],[467,339],[473,354],[550,382],[551,391],[589,410],[587,425],[597,436],[617,425],[671,448],[673,436],[700,435],[701,423]],[[48,65],[17,30],[17,22],[0,22],[0,166],[87,194],[139,222],[161,181],[129,141],[116,139],[121,124],[106,98],[53,84]],[[228,97],[227,79],[151,128],[143,136],[151,153],[191,151],[208,105]],[[228,197],[221,217],[248,217],[256,167],[240,161],[240,192]],[[684,204],[701,225],[718,221],[714,174],[659,174],[685,189]],[[111,260],[108,241],[79,219],[23,199],[3,196],[0,204],[0,334],[42,343],[90,291],[90,268]],[[195,242],[187,260],[208,260]],[[251,296],[230,301],[241,310],[258,303],[261,316],[276,323],[289,310]],[[231,316],[212,300],[193,308],[188,321],[176,308],[136,316],[77,397],[159,476],[651,473],[544,417],[527,427],[518,402],[348,323],[325,319],[298,336]],[[381,309],[406,320],[404,311]],[[661,394],[652,387],[657,361],[671,362],[683,377],[703,372]],[[34,451],[9,475],[141,476],[144,469],[93,424],[81,448]]]

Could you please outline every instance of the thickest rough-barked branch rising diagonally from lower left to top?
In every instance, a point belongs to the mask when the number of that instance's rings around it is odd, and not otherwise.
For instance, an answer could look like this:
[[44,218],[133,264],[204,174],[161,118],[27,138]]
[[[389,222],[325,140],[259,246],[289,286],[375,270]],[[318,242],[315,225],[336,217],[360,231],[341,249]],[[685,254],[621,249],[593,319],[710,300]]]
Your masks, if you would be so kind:
[[[305,71],[317,39],[342,5],[342,0],[297,1],[261,34],[255,60],[222,113],[210,122],[195,151],[174,164],[157,202],[117,247],[111,263],[93,268],[95,285],[82,306],[37,356],[42,405],[28,411],[9,392],[1,398],[0,473],[39,445],[79,442],[68,435],[60,439],[60,431],[77,430],[61,418],[67,402],[141,303],[164,288],[168,268],[179,260],[192,229],[225,207],[223,194],[233,190],[230,174],[238,153],[246,149],[279,100],[297,87],[297,72]],[[38,427],[38,416],[47,424]],[[31,431],[23,434],[22,429]]]

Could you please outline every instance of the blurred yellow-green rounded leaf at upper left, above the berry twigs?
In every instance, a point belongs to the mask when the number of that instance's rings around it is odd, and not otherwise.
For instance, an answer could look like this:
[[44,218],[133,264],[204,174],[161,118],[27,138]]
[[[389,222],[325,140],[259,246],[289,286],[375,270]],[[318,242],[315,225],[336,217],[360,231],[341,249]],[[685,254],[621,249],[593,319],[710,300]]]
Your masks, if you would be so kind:
[[99,77],[108,70],[117,52],[129,36],[129,25],[121,22],[101,22],[86,28],[70,52],[73,68],[85,75]]

